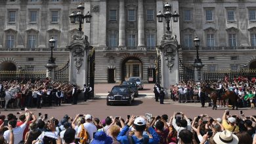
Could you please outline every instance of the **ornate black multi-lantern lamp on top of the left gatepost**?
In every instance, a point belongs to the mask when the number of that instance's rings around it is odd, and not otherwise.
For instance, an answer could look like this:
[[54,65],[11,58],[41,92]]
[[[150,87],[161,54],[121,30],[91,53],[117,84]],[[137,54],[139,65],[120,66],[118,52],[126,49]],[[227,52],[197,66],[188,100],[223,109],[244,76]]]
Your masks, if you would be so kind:
[[70,20],[71,23],[75,23],[75,22],[79,22],[79,31],[82,31],[82,24],[85,20],[86,23],[90,23],[91,22],[91,14],[88,11],[87,14],[83,15],[83,10],[85,9],[85,7],[83,7],[82,4],[80,4],[77,9],[79,10],[76,14],[75,12],[72,12],[72,14],[70,14]]

